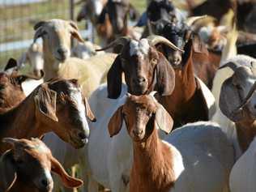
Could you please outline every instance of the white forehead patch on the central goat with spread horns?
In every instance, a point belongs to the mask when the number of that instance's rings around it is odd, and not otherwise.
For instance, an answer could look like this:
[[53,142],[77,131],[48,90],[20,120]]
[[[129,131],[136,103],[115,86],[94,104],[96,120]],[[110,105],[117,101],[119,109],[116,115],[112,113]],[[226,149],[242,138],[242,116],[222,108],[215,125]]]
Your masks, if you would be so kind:
[[147,39],[140,41],[132,40],[130,41],[130,56],[136,55],[139,58],[144,58],[148,54],[149,47]]

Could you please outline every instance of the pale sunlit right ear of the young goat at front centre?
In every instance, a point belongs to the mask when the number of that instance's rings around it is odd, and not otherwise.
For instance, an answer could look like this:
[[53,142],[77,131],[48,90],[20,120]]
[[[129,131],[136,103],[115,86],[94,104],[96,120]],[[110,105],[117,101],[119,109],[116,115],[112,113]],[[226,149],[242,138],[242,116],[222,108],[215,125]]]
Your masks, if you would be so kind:
[[158,105],[155,118],[156,126],[158,126],[160,130],[164,130],[166,134],[169,134],[173,129],[173,118],[164,109],[163,105]]

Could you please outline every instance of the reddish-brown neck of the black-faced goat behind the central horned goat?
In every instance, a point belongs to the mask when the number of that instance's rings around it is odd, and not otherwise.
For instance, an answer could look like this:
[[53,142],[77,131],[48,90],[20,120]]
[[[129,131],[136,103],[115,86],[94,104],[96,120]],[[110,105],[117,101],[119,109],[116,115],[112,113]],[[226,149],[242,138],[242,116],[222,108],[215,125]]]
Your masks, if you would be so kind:
[[[175,119],[174,128],[184,122],[207,121],[208,118],[202,100],[198,100],[199,90],[194,78],[192,52],[193,50],[190,50],[189,58],[181,68],[174,69],[175,87],[172,95],[159,98],[160,104]],[[191,110],[194,110],[194,113]]]

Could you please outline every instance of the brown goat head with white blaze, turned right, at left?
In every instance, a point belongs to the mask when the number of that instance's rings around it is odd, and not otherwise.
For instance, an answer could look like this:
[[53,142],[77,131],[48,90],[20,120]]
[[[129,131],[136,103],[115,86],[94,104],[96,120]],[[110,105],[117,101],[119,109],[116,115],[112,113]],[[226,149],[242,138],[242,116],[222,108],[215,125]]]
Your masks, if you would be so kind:
[[[35,96],[39,118],[58,136],[73,147],[83,147],[88,141],[88,117],[95,117],[83,97],[76,79],[56,79],[42,84]],[[43,116],[42,116],[43,115]],[[52,121],[49,122],[49,117]]]

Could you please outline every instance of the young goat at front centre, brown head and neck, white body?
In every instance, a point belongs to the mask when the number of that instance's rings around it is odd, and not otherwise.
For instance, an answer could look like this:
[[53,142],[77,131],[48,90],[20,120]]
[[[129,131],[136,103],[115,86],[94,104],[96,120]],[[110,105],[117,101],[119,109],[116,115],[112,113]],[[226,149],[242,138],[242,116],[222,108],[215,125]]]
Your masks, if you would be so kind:
[[[133,143],[130,192],[228,192],[233,146],[219,126],[197,122],[169,134],[173,118],[164,107],[151,95],[129,94],[110,118],[110,137],[121,131],[123,122]],[[161,140],[158,130],[169,135]]]

